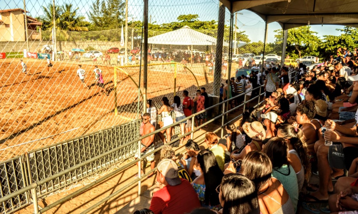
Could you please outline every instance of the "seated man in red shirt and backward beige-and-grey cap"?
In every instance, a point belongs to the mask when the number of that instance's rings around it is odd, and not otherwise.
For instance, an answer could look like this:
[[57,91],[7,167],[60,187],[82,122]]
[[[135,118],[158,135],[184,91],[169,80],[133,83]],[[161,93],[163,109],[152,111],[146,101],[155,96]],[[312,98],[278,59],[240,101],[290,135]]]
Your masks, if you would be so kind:
[[179,178],[178,166],[173,160],[163,159],[158,164],[156,180],[163,188],[156,191],[149,209],[154,214],[190,213],[200,207],[198,195],[188,180]]

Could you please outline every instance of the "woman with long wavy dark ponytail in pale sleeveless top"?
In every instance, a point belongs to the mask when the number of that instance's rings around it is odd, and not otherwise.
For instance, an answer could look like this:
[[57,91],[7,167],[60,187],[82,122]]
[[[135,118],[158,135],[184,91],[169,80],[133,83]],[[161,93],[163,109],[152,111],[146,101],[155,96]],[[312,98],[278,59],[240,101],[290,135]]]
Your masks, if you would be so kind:
[[308,149],[305,135],[300,128],[286,124],[277,129],[277,137],[282,137],[287,142],[289,162],[296,172],[298,190],[301,191],[304,181],[308,183],[311,177],[311,163],[307,156]]

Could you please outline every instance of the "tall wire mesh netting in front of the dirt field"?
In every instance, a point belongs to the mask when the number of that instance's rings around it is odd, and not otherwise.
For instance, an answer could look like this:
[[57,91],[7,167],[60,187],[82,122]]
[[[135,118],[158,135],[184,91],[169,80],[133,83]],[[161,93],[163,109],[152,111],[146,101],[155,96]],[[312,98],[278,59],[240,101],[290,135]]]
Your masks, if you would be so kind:
[[[241,14],[219,8],[214,0],[149,3],[149,50],[143,54],[142,1],[1,4],[0,160],[137,118],[144,58],[150,63],[147,98],[157,107],[163,96],[171,102],[174,93],[182,97],[188,90],[192,97],[198,87],[219,97],[229,69],[234,77],[259,67],[265,34],[263,21],[248,26]],[[280,55],[282,48],[269,42],[265,50]],[[96,66],[103,84],[97,84]],[[115,67],[121,69],[116,104]]]

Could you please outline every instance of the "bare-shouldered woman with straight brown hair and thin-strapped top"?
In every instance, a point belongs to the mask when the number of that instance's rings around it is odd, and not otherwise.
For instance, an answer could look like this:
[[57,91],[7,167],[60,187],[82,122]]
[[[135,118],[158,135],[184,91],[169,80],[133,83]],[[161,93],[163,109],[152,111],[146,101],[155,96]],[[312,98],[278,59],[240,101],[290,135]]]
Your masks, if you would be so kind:
[[272,164],[265,153],[249,152],[242,160],[240,172],[255,183],[262,214],[295,213],[284,186],[271,177]]

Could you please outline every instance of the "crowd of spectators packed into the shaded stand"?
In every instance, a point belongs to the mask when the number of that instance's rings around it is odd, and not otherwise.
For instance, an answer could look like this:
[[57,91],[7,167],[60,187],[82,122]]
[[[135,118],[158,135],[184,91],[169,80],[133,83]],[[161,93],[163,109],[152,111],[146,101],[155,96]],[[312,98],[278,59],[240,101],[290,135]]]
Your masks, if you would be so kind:
[[[265,66],[226,82],[224,100],[262,84],[265,104],[243,112],[240,126],[227,124],[226,141],[207,132],[207,149],[181,141],[186,153],[176,160],[165,146],[146,213],[288,214],[300,205],[312,213],[358,213],[358,65],[343,50],[311,69]],[[188,109],[193,100],[183,94],[184,103],[163,101],[166,110]],[[194,100],[203,103],[202,95]],[[231,107],[241,103],[238,97]]]

